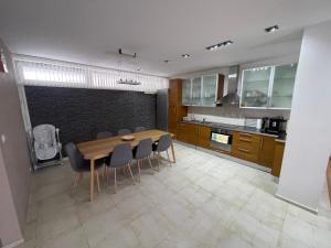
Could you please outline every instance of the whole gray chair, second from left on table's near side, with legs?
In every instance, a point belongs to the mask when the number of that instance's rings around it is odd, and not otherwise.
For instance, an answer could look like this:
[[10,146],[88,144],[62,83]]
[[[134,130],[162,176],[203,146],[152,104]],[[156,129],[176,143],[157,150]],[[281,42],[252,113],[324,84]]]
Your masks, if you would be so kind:
[[[114,169],[114,186],[115,186],[115,193],[117,193],[117,179],[116,179],[116,171],[117,169],[124,168],[128,169],[131,175],[131,179],[135,184],[134,174],[131,171],[131,161],[134,159],[132,155],[132,148],[129,143],[120,143],[117,144],[111,152],[109,162],[106,162],[106,165],[110,169]],[[107,173],[107,172],[106,172]],[[107,174],[108,179],[108,174]],[[107,180],[108,181],[108,180]]]

